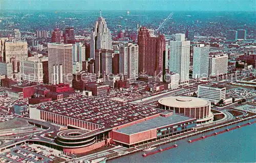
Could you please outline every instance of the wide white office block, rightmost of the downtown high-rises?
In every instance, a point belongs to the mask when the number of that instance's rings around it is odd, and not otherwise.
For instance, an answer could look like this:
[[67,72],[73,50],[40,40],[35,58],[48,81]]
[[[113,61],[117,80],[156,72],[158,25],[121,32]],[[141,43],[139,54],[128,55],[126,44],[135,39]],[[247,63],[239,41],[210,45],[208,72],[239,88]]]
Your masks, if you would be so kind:
[[228,56],[212,55],[209,57],[209,76],[227,74]]

